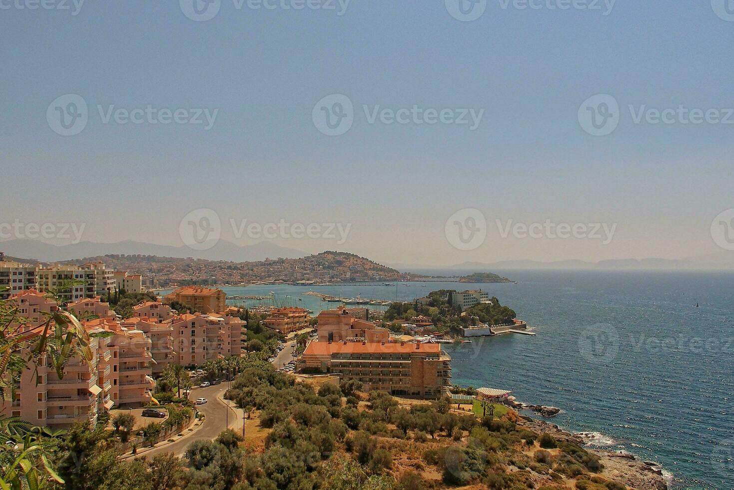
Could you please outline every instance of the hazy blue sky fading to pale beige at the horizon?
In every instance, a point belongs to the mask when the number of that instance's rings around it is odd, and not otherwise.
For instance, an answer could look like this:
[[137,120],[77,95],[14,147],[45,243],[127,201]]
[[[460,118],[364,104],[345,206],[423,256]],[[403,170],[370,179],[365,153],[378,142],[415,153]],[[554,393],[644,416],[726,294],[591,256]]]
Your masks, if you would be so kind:
[[0,240],[734,249],[734,2],[209,1],[0,0]]

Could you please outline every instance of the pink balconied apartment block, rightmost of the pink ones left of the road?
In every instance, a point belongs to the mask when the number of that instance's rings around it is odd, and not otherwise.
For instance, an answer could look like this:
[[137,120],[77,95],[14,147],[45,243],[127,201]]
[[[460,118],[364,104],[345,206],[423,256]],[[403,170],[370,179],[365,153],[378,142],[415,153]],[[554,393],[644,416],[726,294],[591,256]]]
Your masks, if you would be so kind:
[[242,328],[238,317],[219,314],[183,314],[171,320],[178,364],[203,364],[219,357],[241,354]]

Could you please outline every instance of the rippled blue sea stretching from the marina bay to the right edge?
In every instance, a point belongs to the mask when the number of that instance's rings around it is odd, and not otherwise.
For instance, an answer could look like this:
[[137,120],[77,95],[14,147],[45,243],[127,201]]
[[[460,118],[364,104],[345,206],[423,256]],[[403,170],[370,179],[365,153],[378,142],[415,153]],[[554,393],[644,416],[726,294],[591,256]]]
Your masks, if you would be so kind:
[[338,303],[305,295],[308,291],[410,301],[436,289],[483,289],[514,309],[536,335],[443,345],[452,358],[454,384],[509,389],[518,401],[558,407],[561,413],[549,422],[585,433],[592,446],[661,464],[671,488],[734,490],[734,274],[503,270],[502,275],[515,282],[224,289],[230,296],[272,298],[230,304],[276,303],[313,314]]

